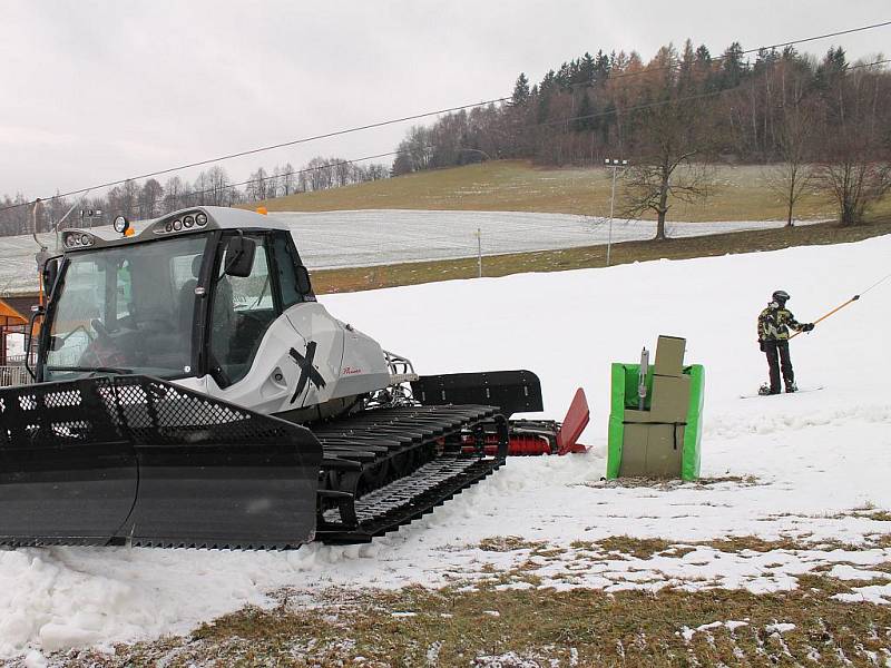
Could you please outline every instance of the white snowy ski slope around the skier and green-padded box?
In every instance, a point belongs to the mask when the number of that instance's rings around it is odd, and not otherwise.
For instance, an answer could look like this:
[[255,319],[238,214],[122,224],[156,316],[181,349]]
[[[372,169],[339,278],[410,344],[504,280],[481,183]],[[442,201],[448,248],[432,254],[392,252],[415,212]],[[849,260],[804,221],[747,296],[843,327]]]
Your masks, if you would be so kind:
[[[530,369],[546,412],[561,418],[575,389],[593,407],[586,455],[513,459],[425,519],[363,547],[290,553],[151,549],[0,552],[0,657],[186,632],[202,620],[264,605],[277,588],[312,596],[329,584],[468,586],[537,564],[542,586],[789,589],[831,569],[852,600],[891,602],[891,549],[870,547],[891,522],[891,281],[792,343],[796,395],[741,400],[765,362],[755,317],[772,291],[811,321],[888,273],[891,236],[683,262],[458,281],[324,297],[327,307],[408,355],[422,373]],[[686,336],[706,367],[703,475],[708,484],[623,487],[605,471],[609,363],[635,361],[658,334]],[[587,541],[663,538],[649,558]],[[516,536],[517,549],[480,541]],[[806,549],[768,552],[697,544],[725,537],[791,538]],[[536,553],[537,541],[561,548]],[[574,541],[582,541],[576,542]],[[842,546],[861,546],[862,549]],[[518,578],[506,586],[531,587]],[[695,632],[695,629],[692,630]]]

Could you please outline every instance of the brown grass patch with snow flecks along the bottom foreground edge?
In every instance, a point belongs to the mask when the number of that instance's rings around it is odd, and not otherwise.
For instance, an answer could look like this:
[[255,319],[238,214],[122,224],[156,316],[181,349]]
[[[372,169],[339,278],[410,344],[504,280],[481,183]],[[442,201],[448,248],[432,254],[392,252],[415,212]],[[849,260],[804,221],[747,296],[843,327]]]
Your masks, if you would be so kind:
[[187,638],[63,662],[467,667],[500,657],[541,666],[866,666],[891,651],[891,607],[834,600],[848,583],[825,576],[804,576],[802,584],[766,595],[415,587],[363,595],[345,612],[341,603],[244,609]]

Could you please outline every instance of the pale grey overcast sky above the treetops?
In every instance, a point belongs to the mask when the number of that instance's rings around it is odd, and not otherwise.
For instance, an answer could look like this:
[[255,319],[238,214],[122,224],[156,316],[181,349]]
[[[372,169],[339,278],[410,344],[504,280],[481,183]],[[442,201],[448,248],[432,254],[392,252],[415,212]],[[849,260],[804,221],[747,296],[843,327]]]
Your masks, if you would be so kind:
[[[647,60],[689,37],[716,56],[891,20],[891,2],[0,0],[0,194],[33,197],[509,95],[585,51]],[[888,52],[891,27],[802,50],[830,43]],[[407,127],[223,166],[386,153]]]

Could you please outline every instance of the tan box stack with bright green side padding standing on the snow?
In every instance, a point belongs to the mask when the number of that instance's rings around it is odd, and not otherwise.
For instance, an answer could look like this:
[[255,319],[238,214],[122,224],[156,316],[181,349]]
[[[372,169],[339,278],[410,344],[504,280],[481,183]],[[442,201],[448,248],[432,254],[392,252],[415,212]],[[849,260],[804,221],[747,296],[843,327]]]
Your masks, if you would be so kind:
[[659,336],[643,411],[639,365],[613,365],[607,478],[698,477],[705,374],[701,365],[684,366],[685,345],[684,338]]

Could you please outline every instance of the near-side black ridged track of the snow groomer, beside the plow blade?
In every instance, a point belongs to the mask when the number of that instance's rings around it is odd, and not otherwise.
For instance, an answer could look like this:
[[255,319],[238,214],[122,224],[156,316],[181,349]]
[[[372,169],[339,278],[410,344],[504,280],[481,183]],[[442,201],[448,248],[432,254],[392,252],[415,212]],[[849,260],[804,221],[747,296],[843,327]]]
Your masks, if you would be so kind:
[[[496,424],[498,454],[482,453],[483,425]],[[463,453],[461,435],[480,435]],[[323,446],[316,539],[368,542],[432,511],[505,463],[507,421],[484,405],[369,411],[313,428]]]

